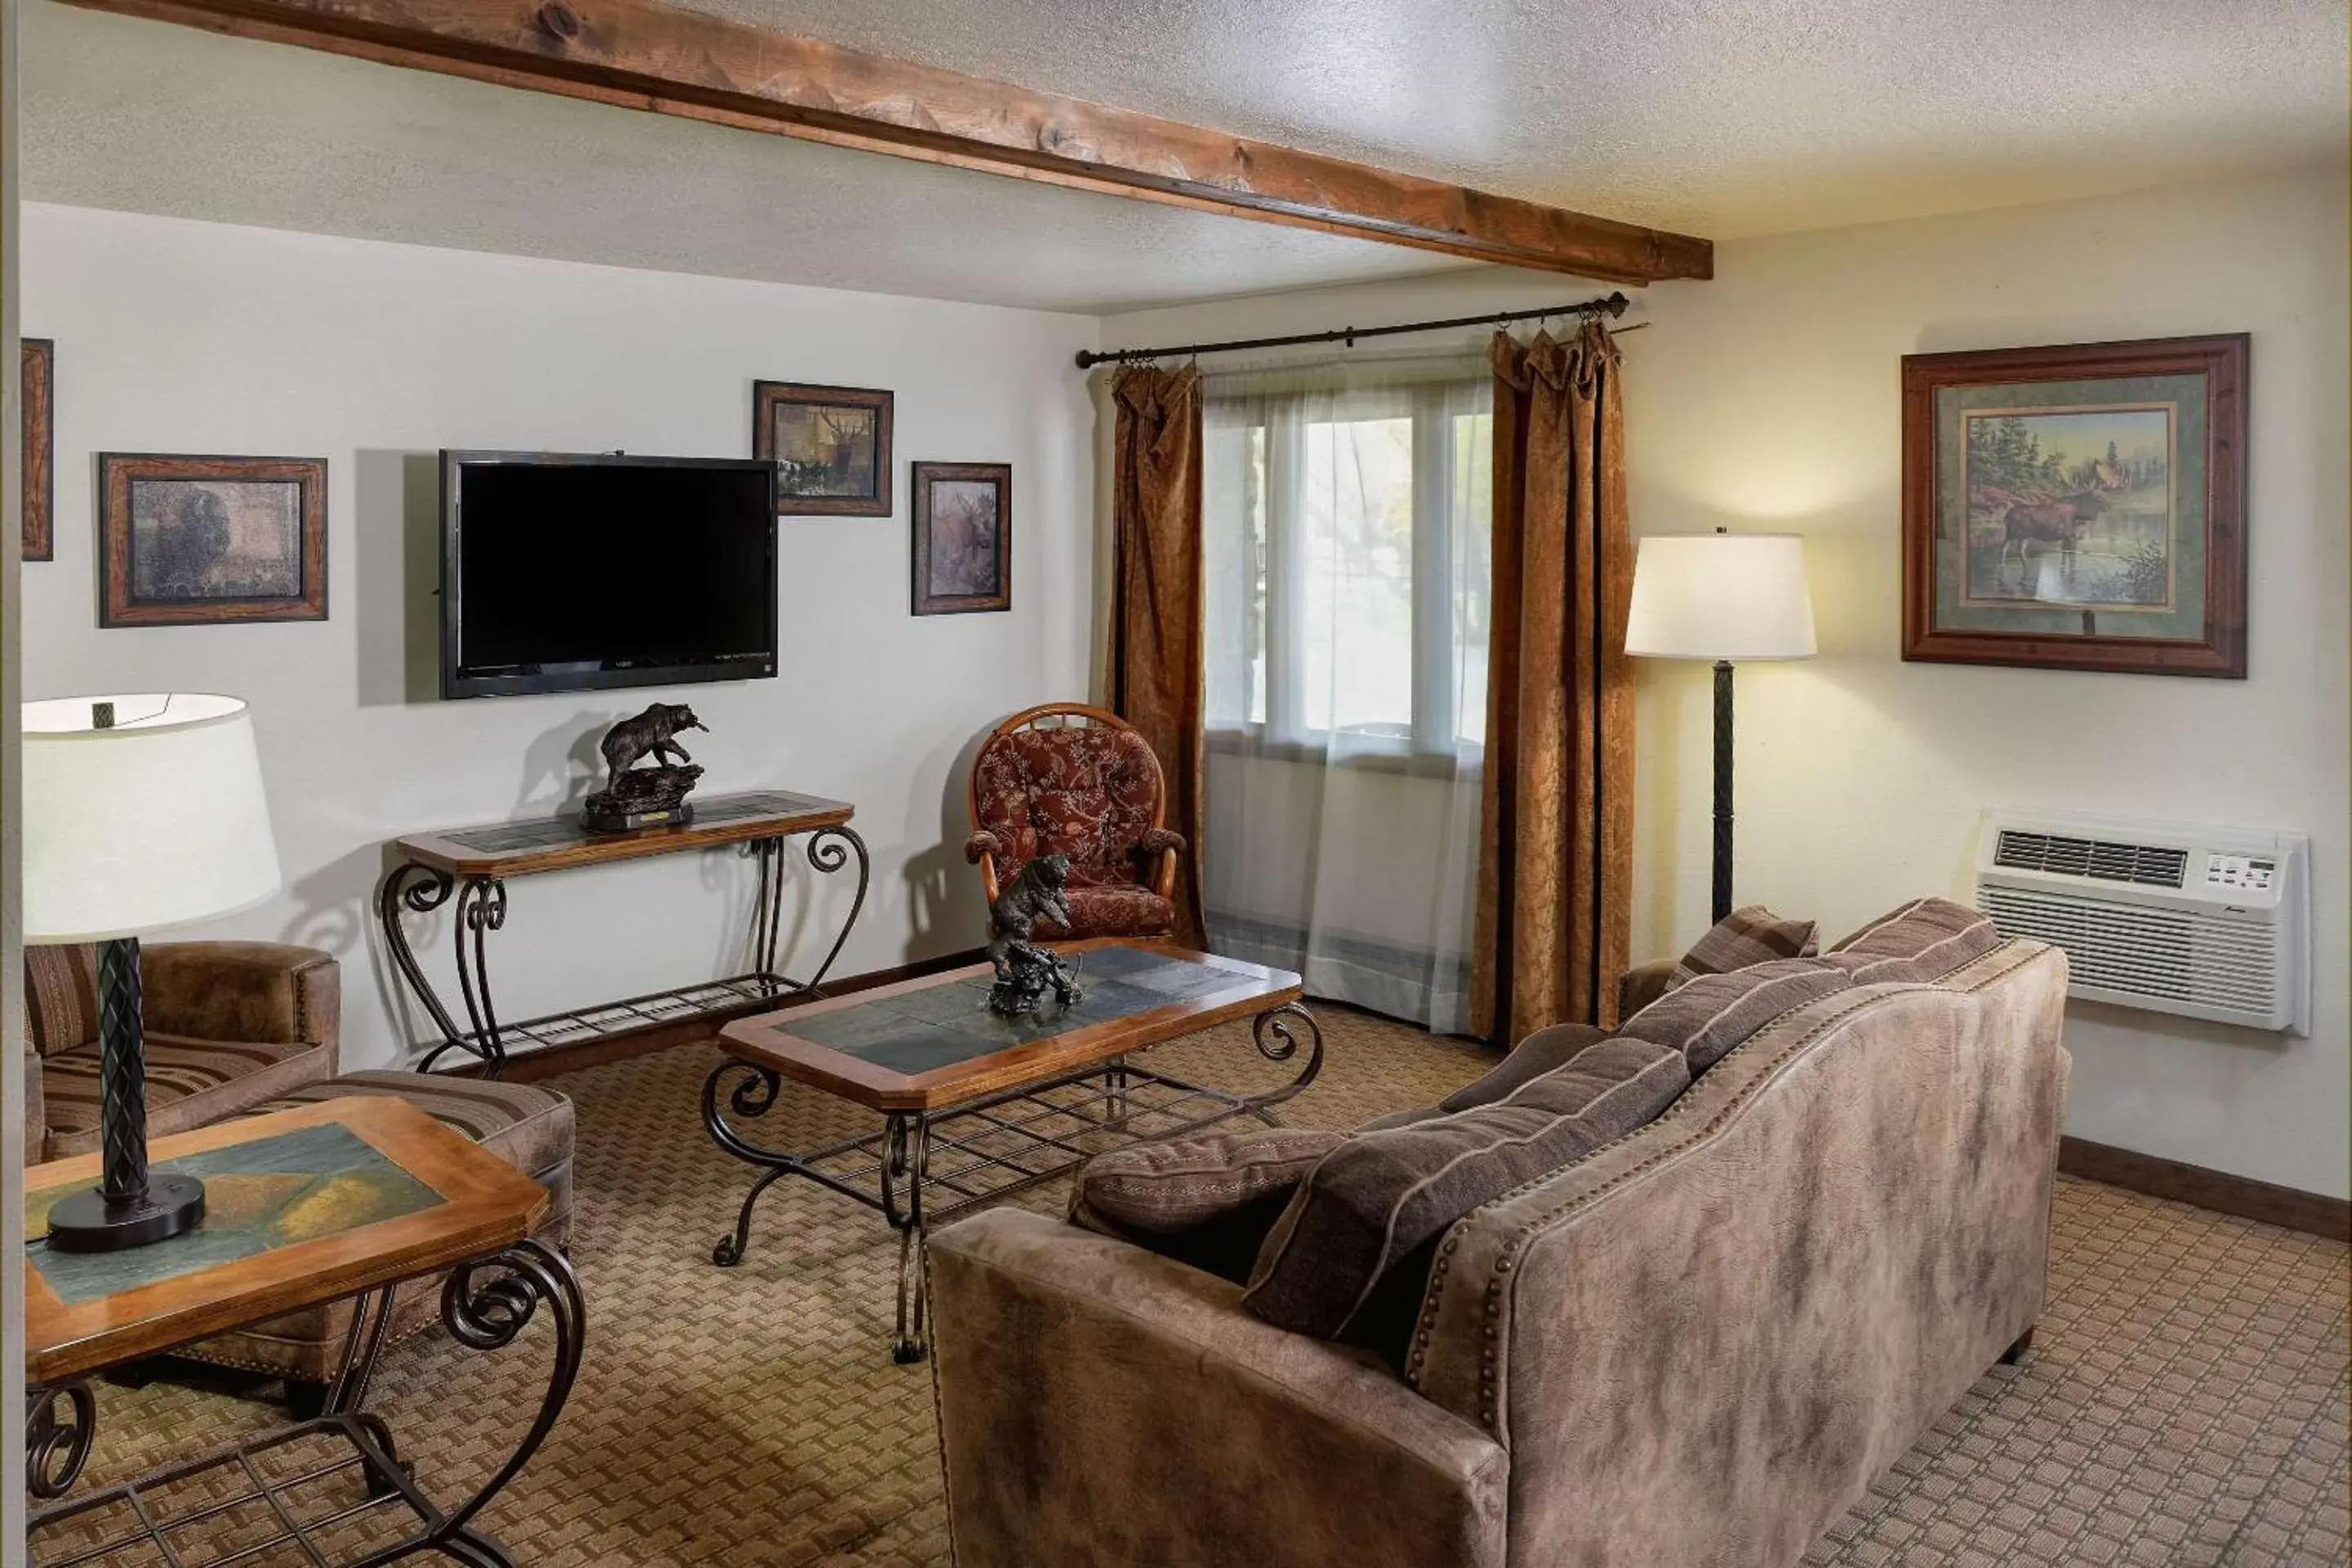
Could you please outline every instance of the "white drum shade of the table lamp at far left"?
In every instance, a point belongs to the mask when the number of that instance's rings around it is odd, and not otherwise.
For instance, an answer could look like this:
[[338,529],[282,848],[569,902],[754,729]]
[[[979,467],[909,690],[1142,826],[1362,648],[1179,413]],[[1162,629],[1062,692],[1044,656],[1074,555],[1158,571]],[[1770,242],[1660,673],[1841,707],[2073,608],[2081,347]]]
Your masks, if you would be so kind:
[[[99,729],[92,703],[115,705]],[[254,722],[233,696],[24,705],[24,940],[92,943],[278,891]]]

